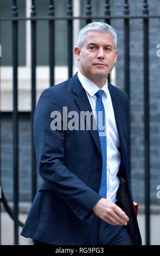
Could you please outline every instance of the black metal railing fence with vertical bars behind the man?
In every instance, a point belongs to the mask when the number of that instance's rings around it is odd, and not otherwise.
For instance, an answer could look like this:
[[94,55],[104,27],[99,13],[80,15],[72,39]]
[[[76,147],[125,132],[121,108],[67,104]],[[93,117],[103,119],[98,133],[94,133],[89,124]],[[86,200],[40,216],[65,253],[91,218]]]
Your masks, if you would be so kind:
[[[60,1],[60,0],[59,0]],[[18,187],[18,22],[30,21],[31,22],[31,131],[33,131],[33,118],[36,107],[36,23],[38,20],[48,20],[49,30],[49,86],[53,86],[55,81],[54,67],[55,67],[55,20],[67,20],[67,40],[68,45],[66,51],[68,53],[68,78],[73,75],[73,21],[75,19],[85,20],[86,23],[103,19],[107,23],[111,23],[113,20],[121,19],[124,21],[124,76],[125,76],[125,92],[130,97],[130,20],[142,19],[143,21],[143,47],[144,47],[144,161],[145,161],[145,240],[146,245],[150,244],[150,138],[149,138],[149,21],[160,16],[149,15],[148,1],[144,0],[142,5],[142,15],[130,15],[129,1],[124,1],[124,12],[122,15],[111,15],[110,1],[104,1],[104,15],[93,16],[92,15],[92,1],[86,1],[86,13],[82,16],[73,16],[73,1],[68,0],[66,6],[66,16],[55,16],[54,0],[50,0],[48,6],[48,15],[36,16],[35,1],[31,1],[31,13],[30,17],[18,16],[17,1],[12,1],[11,17],[0,17],[1,21],[12,22],[12,68],[13,68],[13,112],[12,112],[12,124],[13,124],[13,159],[14,159],[14,211],[12,212],[5,200],[5,195],[2,193],[2,202],[5,209],[8,211],[11,218],[14,220],[14,243],[18,245],[18,225],[23,225],[18,221],[18,203],[19,203],[19,187]],[[47,1],[46,1],[47,4]],[[110,78],[109,78],[110,79]],[[0,120],[1,121],[1,120]],[[1,130],[0,130],[1,132]],[[32,200],[35,197],[37,176],[36,176],[36,158],[33,141],[33,132],[31,132],[31,194]],[[1,152],[1,151],[0,151]],[[130,153],[129,153],[130,157]],[[1,163],[1,162],[0,162]],[[129,166],[130,169],[130,166]],[[0,166],[1,174],[1,166]],[[0,177],[1,181],[1,177]],[[3,187],[2,187],[3,191]],[[0,232],[1,234],[1,232]]]

